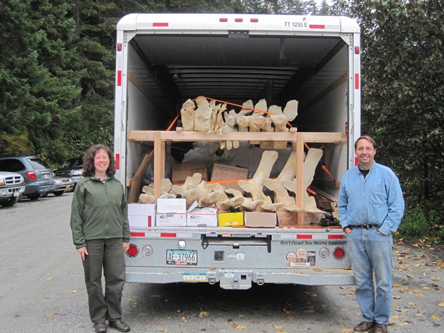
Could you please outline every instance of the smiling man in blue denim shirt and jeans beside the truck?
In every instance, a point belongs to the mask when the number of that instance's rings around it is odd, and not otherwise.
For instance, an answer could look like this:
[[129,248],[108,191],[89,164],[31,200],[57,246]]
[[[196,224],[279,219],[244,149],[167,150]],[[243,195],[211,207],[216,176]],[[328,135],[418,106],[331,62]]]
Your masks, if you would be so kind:
[[358,165],[345,172],[339,190],[339,216],[363,316],[354,332],[386,333],[391,308],[391,232],[398,229],[404,214],[404,199],[395,173],[375,162],[376,144],[371,137],[356,140],[355,154]]

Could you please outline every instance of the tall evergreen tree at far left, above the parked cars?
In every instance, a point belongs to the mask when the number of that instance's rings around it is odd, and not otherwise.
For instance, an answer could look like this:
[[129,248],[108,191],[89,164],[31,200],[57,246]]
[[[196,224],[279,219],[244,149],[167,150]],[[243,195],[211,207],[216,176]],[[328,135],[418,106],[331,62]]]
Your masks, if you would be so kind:
[[[0,126],[25,133],[26,153],[49,155],[78,94],[69,1],[4,1],[1,10]],[[4,137],[3,137],[4,139]],[[6,145],[2,142],[1,145]]]

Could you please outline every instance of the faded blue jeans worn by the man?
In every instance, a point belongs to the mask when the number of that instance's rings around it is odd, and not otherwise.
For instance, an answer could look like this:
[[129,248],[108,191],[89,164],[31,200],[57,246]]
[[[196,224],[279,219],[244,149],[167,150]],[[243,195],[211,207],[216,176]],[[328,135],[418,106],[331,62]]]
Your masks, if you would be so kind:
[[356,280],[355,294],[364,321],[387,325],[391,309],[391,234],[383,236],[375,228],[355,228],[346,238]]

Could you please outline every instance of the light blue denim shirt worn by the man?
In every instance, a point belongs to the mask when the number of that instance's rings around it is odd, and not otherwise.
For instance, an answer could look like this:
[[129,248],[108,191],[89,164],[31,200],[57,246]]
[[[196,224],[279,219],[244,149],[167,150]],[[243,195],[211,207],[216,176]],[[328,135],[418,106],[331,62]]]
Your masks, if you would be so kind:
[[398,177],[374,163],[366,178],[354,167],[345,172],[339,189],[339,220],[347,225],[382,225],[379,232],[395,232],[404,215],[404,198]]

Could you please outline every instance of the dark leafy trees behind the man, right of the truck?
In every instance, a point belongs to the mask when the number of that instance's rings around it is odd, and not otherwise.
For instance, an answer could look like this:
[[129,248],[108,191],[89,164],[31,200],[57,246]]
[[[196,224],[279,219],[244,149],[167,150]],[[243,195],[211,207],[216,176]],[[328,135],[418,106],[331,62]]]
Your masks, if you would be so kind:
[[444,212],[444,3],[336,1],[361,25],[362,133],[400,176],[407,205]]

